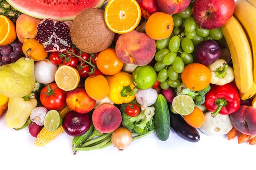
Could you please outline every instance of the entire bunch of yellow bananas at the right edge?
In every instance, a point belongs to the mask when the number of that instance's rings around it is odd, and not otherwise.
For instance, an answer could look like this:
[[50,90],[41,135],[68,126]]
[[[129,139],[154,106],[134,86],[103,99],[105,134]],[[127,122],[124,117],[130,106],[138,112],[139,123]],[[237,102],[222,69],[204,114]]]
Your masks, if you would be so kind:
[[256,0],[236,0],[234,16],[222,27],[241,99],[256,95]]

